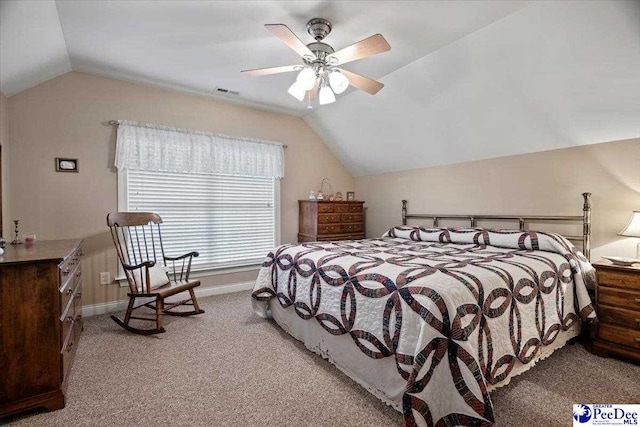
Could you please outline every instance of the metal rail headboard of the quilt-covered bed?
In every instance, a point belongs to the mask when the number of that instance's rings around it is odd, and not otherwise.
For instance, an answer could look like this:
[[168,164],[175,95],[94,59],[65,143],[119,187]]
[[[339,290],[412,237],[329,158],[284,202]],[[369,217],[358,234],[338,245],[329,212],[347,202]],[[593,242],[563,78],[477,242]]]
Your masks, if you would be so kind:
[[525,230],[527,221],[547,222],[582,222],[582,236],[564,236],[569,240],[582,241],[582,253],[591,259],[591,193],[582,193],[584,204],[582,215],[554,216],[554,215],[447,215],[447,214],[408,214],[407,201],[402,201],[402,225],[407,225],[407,219],[431,219],[433,226],[438,226],[440,219],[466,219],[471,227],[476,227],[480,220],[518,221],[520,230]]

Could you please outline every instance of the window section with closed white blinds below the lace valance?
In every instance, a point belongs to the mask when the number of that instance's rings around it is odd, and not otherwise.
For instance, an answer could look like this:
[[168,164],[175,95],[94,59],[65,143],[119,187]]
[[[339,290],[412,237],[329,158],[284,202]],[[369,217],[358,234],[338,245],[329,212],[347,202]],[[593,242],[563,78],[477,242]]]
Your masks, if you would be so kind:
[[279,242],[275,178],[125,170],[121,211],[157,212],[167,256],[198,251],[193,270],[257,265]]

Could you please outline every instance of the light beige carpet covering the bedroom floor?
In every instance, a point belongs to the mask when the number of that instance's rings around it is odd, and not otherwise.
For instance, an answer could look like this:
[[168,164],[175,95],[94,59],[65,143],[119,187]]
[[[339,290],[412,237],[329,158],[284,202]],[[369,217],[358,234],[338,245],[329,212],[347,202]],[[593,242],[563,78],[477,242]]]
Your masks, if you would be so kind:
[[[203,298],[143,337],[86,319],[66,408],[15,426],[401,426],[380,402],[272,322],[250,294]],[[492,394],[496,425],[571,425],[573,403],[639,403],[640,366],[569,345]]]

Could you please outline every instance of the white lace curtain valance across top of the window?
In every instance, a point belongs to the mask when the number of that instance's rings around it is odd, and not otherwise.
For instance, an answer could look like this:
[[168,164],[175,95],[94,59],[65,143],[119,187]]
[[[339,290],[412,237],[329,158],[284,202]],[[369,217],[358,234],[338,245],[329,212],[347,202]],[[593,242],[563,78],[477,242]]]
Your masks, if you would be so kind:
[[283,178],[284,146],[270,141],[118,121],[121,169]]

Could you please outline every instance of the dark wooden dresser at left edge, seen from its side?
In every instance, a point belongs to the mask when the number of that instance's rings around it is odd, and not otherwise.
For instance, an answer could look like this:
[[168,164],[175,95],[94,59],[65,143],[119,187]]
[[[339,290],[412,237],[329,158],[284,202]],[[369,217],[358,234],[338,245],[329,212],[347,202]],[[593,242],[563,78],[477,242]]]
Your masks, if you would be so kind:
[[37,241],[0,255],[0,420],[64,408],[82,332],[80,245]]

